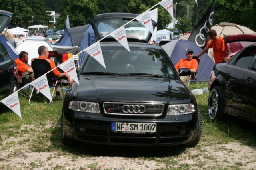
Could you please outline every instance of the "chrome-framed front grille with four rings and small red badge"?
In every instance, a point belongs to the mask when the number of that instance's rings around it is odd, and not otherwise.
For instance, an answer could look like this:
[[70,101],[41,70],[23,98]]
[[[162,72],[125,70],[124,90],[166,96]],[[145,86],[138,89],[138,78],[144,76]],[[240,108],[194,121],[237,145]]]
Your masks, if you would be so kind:
[[164,104],[158,103],[114,103],[104,102],[104,112],[106,115],[124,116],[161,116],[164,111]]

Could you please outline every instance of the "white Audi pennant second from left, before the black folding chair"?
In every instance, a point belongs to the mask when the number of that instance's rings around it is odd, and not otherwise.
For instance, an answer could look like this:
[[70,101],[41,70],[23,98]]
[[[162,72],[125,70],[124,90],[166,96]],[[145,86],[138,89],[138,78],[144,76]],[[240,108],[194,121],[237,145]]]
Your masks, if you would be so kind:
[[46,75],[42,75],[38,79],[32,81],[30,84],[52,102],[52,96]]

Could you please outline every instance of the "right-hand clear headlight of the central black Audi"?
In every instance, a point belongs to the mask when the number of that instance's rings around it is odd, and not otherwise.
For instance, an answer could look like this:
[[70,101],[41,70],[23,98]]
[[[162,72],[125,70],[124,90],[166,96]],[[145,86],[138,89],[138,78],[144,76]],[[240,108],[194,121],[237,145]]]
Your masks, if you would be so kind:
[[193,104],[169,105],[167,115],[184,115],[193,113],[195,106]]

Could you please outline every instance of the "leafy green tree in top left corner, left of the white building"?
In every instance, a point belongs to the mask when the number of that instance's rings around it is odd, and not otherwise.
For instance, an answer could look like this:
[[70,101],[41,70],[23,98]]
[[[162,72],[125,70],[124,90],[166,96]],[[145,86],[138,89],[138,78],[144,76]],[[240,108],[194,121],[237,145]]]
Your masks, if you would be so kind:
[[34,24],[48,25],[51,18],[44,2],[38,0],[2,0],[0,9],[13,13],[10,24],[24,28]]

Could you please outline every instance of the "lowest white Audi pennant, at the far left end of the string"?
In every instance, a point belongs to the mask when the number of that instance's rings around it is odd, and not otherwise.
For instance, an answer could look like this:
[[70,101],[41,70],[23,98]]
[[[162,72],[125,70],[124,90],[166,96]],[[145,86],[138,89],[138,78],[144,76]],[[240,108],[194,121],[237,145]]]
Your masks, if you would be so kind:
[[14,111],[14,113],[16,113],[20,117],[20,119],[22,119],[20,113],[20,101],[18,92],[14,92],[10,96],[3,99],[2,103],[4,103],[4,105],[6,105],[9,109]]

